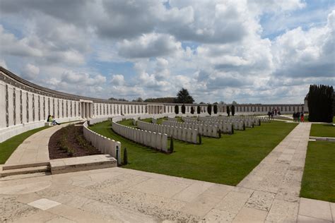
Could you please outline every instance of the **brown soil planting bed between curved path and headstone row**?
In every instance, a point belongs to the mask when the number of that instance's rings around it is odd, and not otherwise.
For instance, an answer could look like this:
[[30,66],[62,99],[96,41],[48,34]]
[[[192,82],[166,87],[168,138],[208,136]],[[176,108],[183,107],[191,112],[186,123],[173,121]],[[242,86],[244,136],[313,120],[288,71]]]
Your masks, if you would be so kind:
[[83,126],[70,125],[59,129],[49,140],[50,159],[83,157],[101,154],[83,136]]

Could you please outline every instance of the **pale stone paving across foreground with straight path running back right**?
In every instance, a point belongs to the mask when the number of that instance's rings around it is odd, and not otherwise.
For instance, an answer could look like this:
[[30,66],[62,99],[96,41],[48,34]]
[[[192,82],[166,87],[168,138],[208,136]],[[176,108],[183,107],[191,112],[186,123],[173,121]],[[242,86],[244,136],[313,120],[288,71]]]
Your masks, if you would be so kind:
[[0,222],[333,222],[334,203],[298,198],[309,131],[236,187],[118,167],[0,181]]

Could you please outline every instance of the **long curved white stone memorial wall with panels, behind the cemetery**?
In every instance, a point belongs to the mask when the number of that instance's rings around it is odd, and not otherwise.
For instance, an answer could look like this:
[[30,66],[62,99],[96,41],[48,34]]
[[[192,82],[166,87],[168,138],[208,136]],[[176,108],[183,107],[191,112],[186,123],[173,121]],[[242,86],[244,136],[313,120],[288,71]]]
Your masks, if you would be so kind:
[[[0,66],[0,143],[33,128],[45,126],[47,116],[59,122],[92,118],[146,114],[175,114],[175,105],[182,104],[116,102],[58,92],[30,83]],[[185,104],[186,113],[200,106],[201,115],[207,104]],[[282,113],[301,111],[302,104],[239,104],[235,114],[266,114],[271,109]],[[218,114],[225,114],[225,105],[218,105]],[[305,105],[305,111],[306,105]]]

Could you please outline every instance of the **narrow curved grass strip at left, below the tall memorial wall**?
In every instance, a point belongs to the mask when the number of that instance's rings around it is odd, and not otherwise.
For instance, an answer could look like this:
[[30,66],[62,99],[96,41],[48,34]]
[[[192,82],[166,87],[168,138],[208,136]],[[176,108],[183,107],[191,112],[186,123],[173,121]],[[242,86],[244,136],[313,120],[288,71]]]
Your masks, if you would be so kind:
[[16,150],[16,148],[21,143],[23,143],[26,138],[28,138],[30,135],[33,135],[34,133],[37,133],[38,131],[42,131],[45,128],[49,128],[49,126],[26,131],[25,133],[13,136],[12,138],[9,138],[8,140],[0,143],[0,164],[4,164],[11,156],[11,154]]

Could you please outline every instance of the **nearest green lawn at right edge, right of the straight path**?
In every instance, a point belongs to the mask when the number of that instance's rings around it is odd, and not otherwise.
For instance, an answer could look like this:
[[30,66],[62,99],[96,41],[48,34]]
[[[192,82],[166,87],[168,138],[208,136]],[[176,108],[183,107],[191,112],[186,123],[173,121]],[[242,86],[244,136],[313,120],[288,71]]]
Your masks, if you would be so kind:
[[308,143],[300,196],[335,202],[334,142]]

